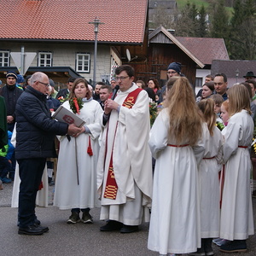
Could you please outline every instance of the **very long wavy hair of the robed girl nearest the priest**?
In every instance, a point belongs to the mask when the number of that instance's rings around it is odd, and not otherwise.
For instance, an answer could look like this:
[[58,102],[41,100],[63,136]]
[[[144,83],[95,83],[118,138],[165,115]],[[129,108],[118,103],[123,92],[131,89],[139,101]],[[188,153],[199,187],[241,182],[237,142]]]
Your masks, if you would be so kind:
[[177,79],[166,96],[165,106],[170,119],[169,137],[176,137],[177,144],[185,141],[195,145],[201,137],[202,119],[188,79]]

